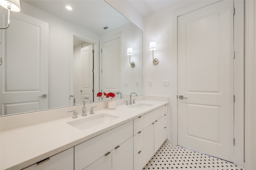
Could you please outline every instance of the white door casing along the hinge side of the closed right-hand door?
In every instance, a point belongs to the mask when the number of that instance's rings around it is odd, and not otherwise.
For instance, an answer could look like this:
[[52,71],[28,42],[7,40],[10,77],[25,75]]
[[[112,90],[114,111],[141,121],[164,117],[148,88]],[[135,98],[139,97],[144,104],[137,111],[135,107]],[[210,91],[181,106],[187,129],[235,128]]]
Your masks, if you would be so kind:
[[244,1],[234,0],[234,163],[244,166]]

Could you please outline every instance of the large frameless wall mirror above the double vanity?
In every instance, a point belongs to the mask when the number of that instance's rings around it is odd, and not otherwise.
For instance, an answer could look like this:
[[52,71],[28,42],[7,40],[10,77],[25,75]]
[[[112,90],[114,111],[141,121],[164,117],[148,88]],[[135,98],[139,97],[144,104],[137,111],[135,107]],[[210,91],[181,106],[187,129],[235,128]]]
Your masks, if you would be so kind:
[[[108,3],[21,0],[20,6],[0,30],[1,116],[72,106],[72,96],[76,105],[84,97],[99,102],[98,92],[142,95],[143,32]],[[1,7],[1,27],[7,16]]]

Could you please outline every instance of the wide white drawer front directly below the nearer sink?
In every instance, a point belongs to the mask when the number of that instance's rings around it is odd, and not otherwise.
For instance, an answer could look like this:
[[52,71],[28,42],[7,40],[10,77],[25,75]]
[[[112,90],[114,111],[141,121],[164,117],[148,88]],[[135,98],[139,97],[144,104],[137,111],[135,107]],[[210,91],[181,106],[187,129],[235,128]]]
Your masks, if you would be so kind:
[[75,146],[75,170],[82,170],[133,136],[133,121]]

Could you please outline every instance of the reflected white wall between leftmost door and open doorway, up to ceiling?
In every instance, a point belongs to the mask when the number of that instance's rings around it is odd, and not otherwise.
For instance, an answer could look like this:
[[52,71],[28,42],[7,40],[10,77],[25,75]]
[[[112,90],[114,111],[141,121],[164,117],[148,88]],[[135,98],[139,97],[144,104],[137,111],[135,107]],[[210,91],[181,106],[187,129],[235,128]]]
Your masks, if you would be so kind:
[[22,3],[22,13],[49,23],[49,108],[69,106],[73,33],[99,41],[98,35]]

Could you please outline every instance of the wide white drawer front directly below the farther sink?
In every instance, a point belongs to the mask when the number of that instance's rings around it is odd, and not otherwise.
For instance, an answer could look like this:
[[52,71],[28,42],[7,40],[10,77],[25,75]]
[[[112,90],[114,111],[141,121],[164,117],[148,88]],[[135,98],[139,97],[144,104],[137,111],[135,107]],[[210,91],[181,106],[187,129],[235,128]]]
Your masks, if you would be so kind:
[[144,128],[162,117],[163,115],[167,114],[167,112],[168,106],[165,105],[144,115]]

